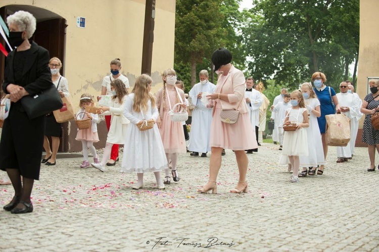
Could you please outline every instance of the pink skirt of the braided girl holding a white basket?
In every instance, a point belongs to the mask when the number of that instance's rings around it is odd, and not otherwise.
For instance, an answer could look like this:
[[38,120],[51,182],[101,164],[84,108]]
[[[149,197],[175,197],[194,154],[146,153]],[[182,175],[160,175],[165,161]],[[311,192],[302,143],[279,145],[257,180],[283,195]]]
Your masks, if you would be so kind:
[[181,121],[171,121],[168,113],[163,113],[161,121],[161,134],[165,153],[185,153],[185,139]]

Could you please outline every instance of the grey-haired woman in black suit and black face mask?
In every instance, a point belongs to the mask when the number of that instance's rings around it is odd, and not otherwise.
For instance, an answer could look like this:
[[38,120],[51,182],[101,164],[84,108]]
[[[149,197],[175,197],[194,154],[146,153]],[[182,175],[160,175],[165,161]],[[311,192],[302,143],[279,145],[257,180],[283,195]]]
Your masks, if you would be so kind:
[[3,83],[12,105],[3,126],[0,169],[8,173],[15,196],[3,208],[12,214],[23,214],[33,211],[30,194],[34,180],[39,179],[45,115],[29,119],[21,99],[38,94],[53,83],[48,67],[49,52],[29,41],[36,26],[33,15],[18,11],[7,18],[7,23],[10,43],[17,49],[7,57]]

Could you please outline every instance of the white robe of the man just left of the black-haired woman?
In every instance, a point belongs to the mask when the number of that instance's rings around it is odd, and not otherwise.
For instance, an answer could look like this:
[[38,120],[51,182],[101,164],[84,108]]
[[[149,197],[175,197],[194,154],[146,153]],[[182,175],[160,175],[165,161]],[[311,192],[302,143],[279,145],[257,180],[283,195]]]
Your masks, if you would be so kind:
[[201,99],[198,99],[199,93],[214,93],[216,86],[207,81],[204,85],[197,83],[188,93],[188,100],[195,106],[192,111],[191,132],[189,132],[188,150],[206,153],[211,151],[209,138],[212,123],[212,108],[207,108]]

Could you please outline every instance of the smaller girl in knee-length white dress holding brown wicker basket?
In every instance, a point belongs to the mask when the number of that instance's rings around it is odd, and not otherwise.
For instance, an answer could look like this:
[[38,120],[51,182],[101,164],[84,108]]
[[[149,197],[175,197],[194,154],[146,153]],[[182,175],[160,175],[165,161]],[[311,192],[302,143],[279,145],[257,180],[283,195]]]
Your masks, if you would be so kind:
[[285,131],[283,137],[282,154],[287,155],[294,169],[291,182],[298,182],[300,159],[299,156],[308,156],[307,132],[309,127],[308,110],[305,108],[303,94],[300,90],[291,93],[292,108],[287,109],[284,125],[296,123],[296,131]]

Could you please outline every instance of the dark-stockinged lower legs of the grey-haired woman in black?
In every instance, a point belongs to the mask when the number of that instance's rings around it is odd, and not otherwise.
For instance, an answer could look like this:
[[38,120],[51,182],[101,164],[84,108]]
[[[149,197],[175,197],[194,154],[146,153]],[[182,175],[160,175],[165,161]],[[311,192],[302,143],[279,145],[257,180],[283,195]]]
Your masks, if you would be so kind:
[[[21,197],[20,200],[30,203],[30,195],[33,189],[34,179],[22,178],[18,169],[6,169],[7,174],[12,182],[15,195]],[[19,203],[16,207],[25,207],[22,203]]]

